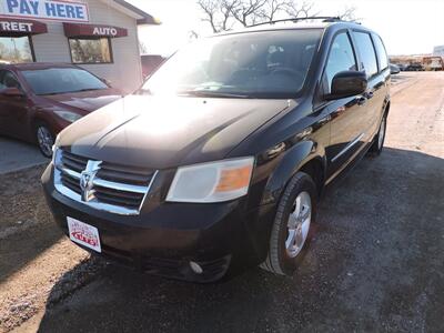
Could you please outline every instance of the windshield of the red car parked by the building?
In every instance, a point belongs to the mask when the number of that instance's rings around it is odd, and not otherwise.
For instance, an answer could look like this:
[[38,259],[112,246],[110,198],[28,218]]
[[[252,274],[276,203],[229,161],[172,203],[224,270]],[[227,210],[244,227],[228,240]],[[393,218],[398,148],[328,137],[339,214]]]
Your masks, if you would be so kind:
[[98,78],[77,68],[50,68],[22,71],[36,94],[59,94],[107,89]]

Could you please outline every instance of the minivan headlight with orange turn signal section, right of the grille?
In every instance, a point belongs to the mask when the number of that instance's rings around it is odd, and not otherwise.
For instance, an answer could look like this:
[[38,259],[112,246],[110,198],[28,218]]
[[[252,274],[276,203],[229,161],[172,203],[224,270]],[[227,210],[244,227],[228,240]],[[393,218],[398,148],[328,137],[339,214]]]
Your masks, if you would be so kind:
[[221,202],[249,192],[254,158],[223,160],[179,168],[167,201]]

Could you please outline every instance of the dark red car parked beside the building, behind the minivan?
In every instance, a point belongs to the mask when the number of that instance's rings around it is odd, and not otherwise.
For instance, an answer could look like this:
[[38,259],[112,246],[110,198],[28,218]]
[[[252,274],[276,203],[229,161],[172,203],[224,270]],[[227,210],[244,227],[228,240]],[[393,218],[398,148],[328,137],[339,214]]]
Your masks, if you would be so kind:
[[73,64],[0,64],[0,135],[37,143],[50,158],[61,130],[121,97]]

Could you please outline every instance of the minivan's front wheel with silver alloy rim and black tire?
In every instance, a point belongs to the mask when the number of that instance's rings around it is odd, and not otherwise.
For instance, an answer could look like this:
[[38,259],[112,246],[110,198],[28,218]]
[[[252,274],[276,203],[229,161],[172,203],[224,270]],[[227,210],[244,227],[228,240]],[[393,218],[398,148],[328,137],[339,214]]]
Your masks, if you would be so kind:
[[262,269],[280,275],[293,275],[310,243],[316,200],[316,185],[312,178],[297,172],[279,202],[269,254],[261,264]]

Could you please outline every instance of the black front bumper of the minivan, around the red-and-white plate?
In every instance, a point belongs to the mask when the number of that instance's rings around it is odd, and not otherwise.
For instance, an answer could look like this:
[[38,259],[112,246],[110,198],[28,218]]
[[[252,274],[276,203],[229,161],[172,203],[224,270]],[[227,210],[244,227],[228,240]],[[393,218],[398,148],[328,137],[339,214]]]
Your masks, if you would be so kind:
[[[42,175],[47,201],[68,234],[67,216],[98,228],[102,255],[152,274],[212,282],[228,272],[256,265],[266,255],[272,208],[246,210],[246,199],[226,203],[145,203],[139,215],[118,215],[73,201]],[[85,249],[88,250],[88,249]],[[195,273],[190,262],[203,272]]]

